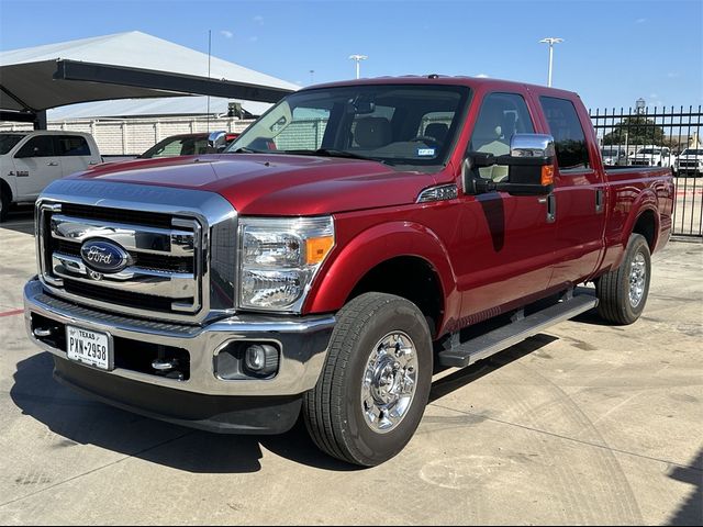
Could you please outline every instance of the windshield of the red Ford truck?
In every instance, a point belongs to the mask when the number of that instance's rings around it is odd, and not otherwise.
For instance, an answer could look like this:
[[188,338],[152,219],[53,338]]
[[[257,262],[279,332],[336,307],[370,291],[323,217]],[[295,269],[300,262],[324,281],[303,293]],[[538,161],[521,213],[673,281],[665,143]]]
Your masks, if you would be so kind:
[[466,87],[425,85],[300,91],[264,114],[226,152],[440,166],[451,149],[468,97]]

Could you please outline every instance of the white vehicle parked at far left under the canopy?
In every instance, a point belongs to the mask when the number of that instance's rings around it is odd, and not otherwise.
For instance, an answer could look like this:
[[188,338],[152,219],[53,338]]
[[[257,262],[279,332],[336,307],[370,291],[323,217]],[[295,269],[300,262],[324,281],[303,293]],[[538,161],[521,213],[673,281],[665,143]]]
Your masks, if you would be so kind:
[[90,134],[0,133],[0,222],[11,203],[32,202],[55,179],[99,162],[102,158]]

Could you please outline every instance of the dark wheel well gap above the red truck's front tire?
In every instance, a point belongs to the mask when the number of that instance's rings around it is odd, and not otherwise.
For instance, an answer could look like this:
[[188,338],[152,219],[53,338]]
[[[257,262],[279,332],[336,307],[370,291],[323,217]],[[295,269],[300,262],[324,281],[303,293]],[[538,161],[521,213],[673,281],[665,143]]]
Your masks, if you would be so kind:
[[437,273],[422,258],[403,256],[379,264],[356,284],[347,302],[368,292],[389,293],[402,296],[415,304],[436,335],[444,314],[444,294]]

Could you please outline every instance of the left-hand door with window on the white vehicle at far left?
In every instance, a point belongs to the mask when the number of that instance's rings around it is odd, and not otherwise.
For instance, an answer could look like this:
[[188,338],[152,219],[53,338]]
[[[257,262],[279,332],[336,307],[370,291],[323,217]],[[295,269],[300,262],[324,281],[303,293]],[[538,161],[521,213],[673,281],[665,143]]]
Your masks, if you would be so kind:
[[53,135],[30,137],[12,159],[16,176],[16,201],[34,200],[44,188],[63,176],[62,157],[54,148]]

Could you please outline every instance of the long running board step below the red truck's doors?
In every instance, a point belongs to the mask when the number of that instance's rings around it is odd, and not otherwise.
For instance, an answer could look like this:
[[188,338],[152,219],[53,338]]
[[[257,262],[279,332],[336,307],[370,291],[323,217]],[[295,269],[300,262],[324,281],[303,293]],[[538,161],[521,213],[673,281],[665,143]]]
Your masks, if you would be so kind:
[[464,344],[439,351],[439,365],[449,368],[465,368],[477,360],[486,359],[505,348],[525,340],[559,322],[568,321],[598,305],[598,299],[590,294],[567,296],[558,304],[518,318],[515,322],[478,336]]

